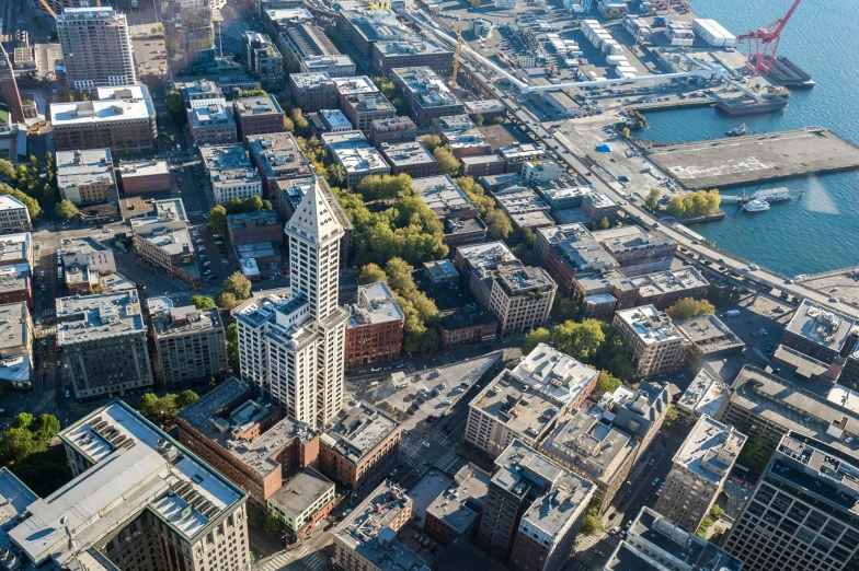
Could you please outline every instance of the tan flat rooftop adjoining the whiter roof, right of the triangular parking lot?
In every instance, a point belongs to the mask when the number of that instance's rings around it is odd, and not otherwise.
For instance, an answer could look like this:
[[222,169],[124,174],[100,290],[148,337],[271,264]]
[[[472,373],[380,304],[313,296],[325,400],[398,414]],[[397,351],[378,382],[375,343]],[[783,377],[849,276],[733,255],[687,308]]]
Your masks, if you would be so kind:
[[536,439],[558,417],[565,404],[529,388],[530,385],[505,370],[469,406],[506,426],[514,433]]

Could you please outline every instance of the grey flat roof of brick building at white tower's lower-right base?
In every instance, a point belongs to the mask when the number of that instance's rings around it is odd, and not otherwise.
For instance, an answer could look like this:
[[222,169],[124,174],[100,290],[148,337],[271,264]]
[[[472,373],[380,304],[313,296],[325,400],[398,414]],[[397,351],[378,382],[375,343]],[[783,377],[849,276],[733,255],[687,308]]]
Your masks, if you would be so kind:
[[358,403],[322,433],[321,440],[337,454],[357,464],[399,426],[376,407]]

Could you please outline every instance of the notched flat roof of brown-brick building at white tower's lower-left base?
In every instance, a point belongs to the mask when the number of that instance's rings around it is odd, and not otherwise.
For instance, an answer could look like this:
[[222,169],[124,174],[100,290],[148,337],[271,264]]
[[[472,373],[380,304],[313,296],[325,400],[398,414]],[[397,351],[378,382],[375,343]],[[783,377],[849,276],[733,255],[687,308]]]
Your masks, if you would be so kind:
[[179,418],[249,469],[265,477],[279,466],[274,459],[279,450],[295,439],[307,442],[316,432],[308,424],[286,417],[253,441],[237,438],[254,423],[277,413],[273,405],[253,398],[251,386],[232,377],[206,393]]

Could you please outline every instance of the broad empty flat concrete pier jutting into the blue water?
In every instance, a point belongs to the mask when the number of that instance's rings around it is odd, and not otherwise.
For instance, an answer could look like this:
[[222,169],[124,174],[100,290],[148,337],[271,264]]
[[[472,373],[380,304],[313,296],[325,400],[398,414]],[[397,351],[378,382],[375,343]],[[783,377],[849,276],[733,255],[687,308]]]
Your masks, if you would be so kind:
[[648,159],[687,188],[732,188],[859,168],[859,148],[822,127],[653,149]]

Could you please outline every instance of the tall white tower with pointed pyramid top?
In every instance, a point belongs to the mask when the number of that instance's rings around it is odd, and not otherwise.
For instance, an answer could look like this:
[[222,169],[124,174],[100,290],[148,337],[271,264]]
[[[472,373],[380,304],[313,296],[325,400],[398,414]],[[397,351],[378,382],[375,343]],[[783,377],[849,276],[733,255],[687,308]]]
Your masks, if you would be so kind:
[[337,221],[317,180],[286,224],[291,288],[262,292],[233,310],[242,378],[296,419],[317,426],[343,405],[348,313],[337,305]]

